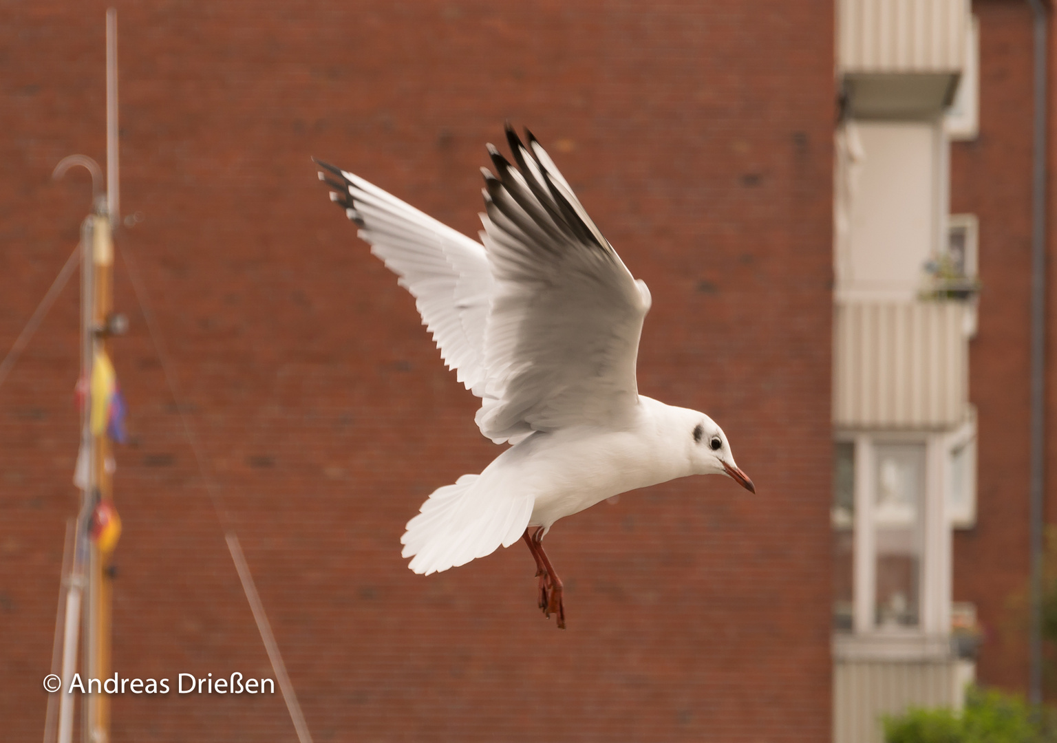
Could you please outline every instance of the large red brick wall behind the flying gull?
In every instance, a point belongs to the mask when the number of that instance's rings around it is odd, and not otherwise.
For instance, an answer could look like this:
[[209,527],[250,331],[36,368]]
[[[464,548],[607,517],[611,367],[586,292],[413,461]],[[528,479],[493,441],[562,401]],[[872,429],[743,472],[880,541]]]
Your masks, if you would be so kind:
[[[104,10],[0,8],[0,350],[105,162]],[[833,4],[118,3],[118,236],[318,742],[819,741],[830,731]],[[559,523],[570,629],[521,545],[424,578],[404,523],[499,449],[310,155],[476,235],[531,126],[654,308],[644,393],[724,426],[720,478]],[[985,222],[986,224],[986,222]],[[39,740],[77,421],[77,292],[0,387],[0,720]],[[118,262],[123,676],[272,675]],[[114,741],[294,740],[275,696],[113,703]]]

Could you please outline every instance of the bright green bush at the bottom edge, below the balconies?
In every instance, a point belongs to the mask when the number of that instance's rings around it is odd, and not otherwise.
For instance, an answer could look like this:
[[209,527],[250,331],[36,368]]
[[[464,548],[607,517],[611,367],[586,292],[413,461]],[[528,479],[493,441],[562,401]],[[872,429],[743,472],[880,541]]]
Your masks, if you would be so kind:
[[1057,743],[1052,710],[1033,716],[1019,698],[981,689],[969,689],[961,714],[911,709],[884,724],[887,743]]

